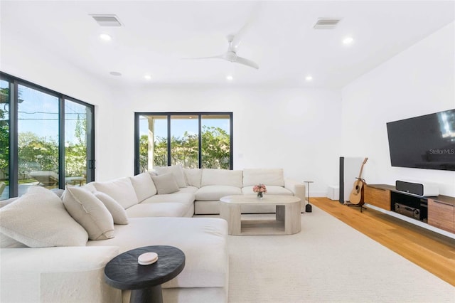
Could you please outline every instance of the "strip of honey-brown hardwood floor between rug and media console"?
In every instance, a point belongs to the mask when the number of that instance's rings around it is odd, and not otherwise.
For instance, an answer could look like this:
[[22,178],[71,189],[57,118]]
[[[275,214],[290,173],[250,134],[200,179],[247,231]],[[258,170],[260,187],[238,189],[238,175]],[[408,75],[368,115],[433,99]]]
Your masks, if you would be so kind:
[[455,286],[454,239],[368,207],[360,213],[328,198],[311,198],[311,204]]

